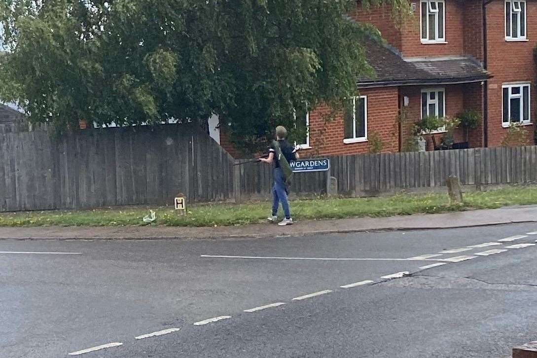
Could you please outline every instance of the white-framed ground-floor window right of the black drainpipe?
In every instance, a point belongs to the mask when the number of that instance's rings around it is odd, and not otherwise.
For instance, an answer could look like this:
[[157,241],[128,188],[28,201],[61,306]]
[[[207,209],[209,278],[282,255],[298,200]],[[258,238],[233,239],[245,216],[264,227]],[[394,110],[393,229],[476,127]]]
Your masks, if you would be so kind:
[[530,123],[529,84],[503,85],[502,94],[502,126]]

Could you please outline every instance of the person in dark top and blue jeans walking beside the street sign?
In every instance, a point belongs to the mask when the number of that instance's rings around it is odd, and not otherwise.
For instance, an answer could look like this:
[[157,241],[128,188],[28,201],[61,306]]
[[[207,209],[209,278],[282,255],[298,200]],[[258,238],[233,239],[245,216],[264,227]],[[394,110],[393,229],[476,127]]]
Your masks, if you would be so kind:
[[269,149],[268,158],[259,158],[264,163],[273,163],[274,162],[274,184],[272,185],[272,215],[267,217],[267,220],[270,222],[278,221],[278,207],[281,202],[281,207],[284,209],[284,220],[280,221],[278,225],[292,225],[293,219],[291,218],[291,211],[289,211],[289,201],[287,200],[287,189],[286,189],[286,179],[284,171],[280,166],[280,160],[278,158],[278,148],[281,150],[281,154],[284,155],[287,162],[299,158],[296,149],[290,145],[287,140],[287,129],[282,126],[276,127],[276,140],[277,143],[273,143]]

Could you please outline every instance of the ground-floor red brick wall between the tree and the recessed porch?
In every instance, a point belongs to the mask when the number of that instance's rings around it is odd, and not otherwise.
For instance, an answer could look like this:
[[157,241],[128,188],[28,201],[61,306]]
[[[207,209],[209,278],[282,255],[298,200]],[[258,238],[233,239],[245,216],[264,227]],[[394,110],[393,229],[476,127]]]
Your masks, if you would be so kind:
[[[397,87],[362,89],[367,96],[367,134],[377,133],[382,140],[382,152],[398,151],[398,90]],[[343,112],[338,111],[326,121],[331,109],[315,108],[309,114],[311,149],[301,150],[301,156],[358,154],[369,150],[369,142],[344,144]]]

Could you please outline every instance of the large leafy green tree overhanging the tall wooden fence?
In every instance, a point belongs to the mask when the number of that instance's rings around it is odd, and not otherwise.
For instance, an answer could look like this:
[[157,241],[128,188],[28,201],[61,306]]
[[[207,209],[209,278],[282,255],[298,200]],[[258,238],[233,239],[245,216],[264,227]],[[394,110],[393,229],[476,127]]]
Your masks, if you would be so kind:
[[[363,0],[407,13],[407,0]],[[371,73],[355,0],[4,0],[0,98],[59,131],[78,120],[229,124],[256,149],[293,109],[335,103]]]

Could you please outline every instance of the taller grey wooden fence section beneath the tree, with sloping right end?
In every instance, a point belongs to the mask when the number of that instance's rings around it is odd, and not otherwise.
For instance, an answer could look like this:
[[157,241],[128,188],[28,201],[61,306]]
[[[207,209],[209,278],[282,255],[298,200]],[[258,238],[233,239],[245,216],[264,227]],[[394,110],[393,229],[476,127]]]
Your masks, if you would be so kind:
[[234,160],[198,126],[0,135],[0,211],[234,198]]

